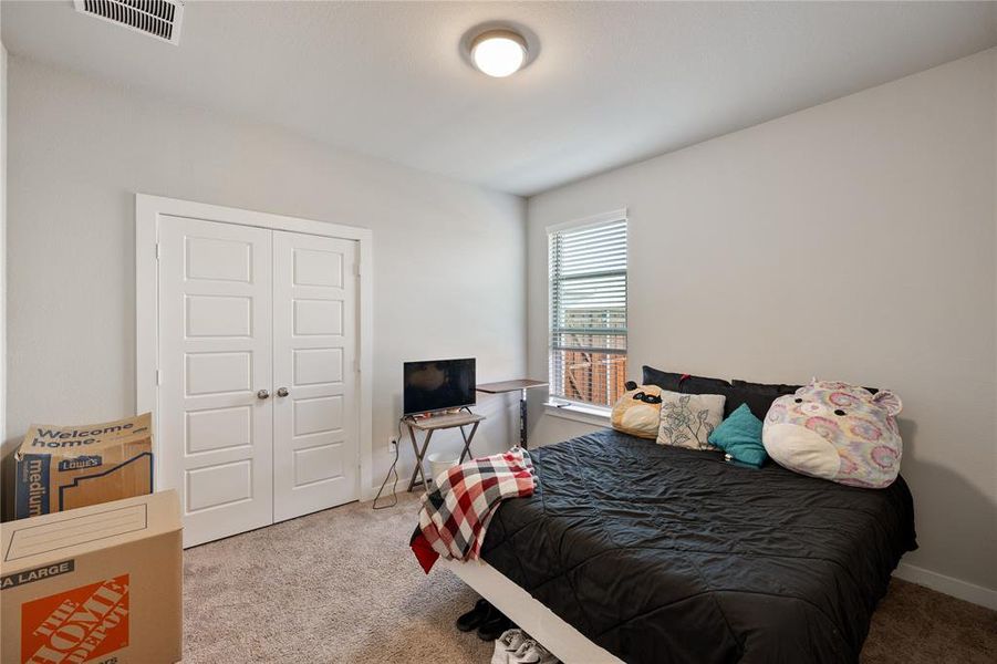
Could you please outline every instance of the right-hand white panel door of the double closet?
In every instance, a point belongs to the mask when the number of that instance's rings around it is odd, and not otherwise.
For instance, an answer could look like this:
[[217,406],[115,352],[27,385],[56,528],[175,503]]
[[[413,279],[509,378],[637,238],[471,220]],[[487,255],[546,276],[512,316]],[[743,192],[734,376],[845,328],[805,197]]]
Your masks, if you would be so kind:
[[273,519],[359,498],[357,242],[273,231]]

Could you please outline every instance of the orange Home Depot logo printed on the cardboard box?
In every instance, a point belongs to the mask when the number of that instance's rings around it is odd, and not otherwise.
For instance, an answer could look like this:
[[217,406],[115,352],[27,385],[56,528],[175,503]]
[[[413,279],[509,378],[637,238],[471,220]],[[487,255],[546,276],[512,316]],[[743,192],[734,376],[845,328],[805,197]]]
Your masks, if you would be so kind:
[[128,574],[21,605],[22,664],[80,664],[128,645]]

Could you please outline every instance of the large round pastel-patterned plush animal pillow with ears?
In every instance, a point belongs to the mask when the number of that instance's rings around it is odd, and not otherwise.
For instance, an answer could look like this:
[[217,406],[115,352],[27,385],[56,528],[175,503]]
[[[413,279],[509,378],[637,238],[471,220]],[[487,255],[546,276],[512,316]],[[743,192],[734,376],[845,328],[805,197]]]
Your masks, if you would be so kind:
[[813,381],[772,403],[761,440],[790,470],[882,489],[900,473],[903,444],[895,417],[902,407],[889,390],[873,395],[848,383]]

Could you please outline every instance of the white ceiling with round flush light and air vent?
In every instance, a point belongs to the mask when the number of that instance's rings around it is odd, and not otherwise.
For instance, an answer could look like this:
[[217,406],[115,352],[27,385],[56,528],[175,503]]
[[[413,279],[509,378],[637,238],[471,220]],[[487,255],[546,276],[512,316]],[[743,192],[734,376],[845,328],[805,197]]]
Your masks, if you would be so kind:
[[[174,46],[2,3],[14,55],[329,145],[532,195],[997,44],[986,2],[207,2]],[[509,79],[461,37],[521,23],[540,52]]]

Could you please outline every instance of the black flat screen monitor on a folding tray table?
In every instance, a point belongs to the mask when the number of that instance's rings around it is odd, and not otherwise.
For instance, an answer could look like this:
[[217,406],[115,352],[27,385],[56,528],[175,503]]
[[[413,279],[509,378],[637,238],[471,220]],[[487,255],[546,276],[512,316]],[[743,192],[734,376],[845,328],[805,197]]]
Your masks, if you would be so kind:
[[402,397],[405,415],[474,405],[475,359],[406,362]]

